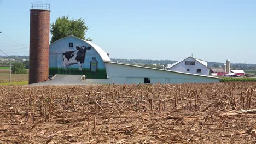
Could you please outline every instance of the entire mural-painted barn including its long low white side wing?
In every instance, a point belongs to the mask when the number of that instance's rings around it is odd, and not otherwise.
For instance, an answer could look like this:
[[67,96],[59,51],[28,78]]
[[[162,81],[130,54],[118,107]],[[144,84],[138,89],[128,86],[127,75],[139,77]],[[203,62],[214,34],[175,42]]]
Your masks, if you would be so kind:
[[92,83],[208,83],[217,77],[141,67],[110,61],[99,46],[68,36],[50,45],[49,75],[85,75]]

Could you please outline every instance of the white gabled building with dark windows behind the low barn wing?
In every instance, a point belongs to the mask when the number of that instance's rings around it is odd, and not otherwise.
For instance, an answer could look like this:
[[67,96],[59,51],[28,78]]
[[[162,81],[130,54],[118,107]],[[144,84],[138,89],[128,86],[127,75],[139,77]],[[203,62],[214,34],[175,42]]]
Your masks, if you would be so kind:
[[186,57],[181,61],[173,63],[167,70],[179,71],[182,73],[190,73],[197,75],[209,75],[210,68],[207,67],[207,62],[201,59]]

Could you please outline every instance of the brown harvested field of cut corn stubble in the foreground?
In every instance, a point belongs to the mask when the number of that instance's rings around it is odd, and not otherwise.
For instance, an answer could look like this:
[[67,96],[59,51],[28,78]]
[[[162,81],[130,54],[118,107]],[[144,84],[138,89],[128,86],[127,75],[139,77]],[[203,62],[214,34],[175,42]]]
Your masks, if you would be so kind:
[[256,83],[0,86],[0,143],[254,143]]

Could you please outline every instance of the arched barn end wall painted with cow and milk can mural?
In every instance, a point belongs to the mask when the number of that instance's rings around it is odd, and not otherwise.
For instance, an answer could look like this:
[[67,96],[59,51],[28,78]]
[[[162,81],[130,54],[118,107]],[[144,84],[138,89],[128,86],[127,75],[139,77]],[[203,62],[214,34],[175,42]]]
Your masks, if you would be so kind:
[[101,56],[107,54],[102,51],[96,45],[73,36],[57,40],[50,45],[49,75],[85,75],[88,79],[107,79]]

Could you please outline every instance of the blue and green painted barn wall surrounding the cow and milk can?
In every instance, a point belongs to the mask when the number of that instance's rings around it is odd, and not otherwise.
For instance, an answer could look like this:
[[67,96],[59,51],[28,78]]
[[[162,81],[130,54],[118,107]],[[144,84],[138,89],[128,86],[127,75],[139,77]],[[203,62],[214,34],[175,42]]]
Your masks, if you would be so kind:
[[[73,47],[69,47],[69,43],[73,43]],[[64,69],[63,53],[68,51],[78,52],[76,47],[86,46],[91,47],[86,51],[84,63],[82,64],[82,70],[79,70],[78,64],[72,64],[68,66],[68,69]],[[90,69],[92,58],[96,58],[97,71]],[[73,57],[74,59],[75,57]],[[89,79],[107,79],[106,68],[104,62],[94,47],[86,43],[84,40],[69,36],[55,41],[50,45],[49,55],[49,75],[55,74],[71,74],[71,75],[86,75]]]

